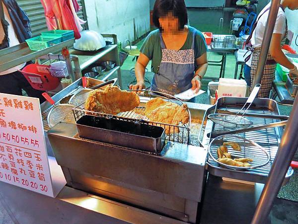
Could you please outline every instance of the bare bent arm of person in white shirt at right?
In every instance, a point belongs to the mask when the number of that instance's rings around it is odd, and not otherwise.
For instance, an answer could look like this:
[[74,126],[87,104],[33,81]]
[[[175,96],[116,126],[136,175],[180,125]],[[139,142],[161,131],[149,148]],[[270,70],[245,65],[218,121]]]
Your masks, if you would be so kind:
[[293,63],[291,63],[291,61],[282,51],[281,41],[282,34],[274,33],[270,44],[270,54],[277,63],[292,70],[296,68],[296,66]]

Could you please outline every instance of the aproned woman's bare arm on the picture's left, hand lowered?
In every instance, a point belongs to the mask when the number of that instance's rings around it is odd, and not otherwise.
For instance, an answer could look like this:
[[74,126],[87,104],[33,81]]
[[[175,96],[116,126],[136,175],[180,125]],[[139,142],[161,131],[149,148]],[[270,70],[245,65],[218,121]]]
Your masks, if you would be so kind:
[[147,67],[148,63],[149,63],[149,58],[145,54],[140,53],[140,56],[135,65],[137,84],[130,85],[129,88],[131,90],[142,90],[145,88],[144,76],[145,76],[145,68]]

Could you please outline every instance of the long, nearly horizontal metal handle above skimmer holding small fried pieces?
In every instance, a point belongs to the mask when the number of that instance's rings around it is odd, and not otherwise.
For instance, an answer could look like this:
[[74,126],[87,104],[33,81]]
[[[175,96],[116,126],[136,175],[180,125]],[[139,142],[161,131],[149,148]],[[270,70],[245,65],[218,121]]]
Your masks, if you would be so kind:
[[284,120],[284,121],[279,121],[279,122],[275,122],[275,123],[270,123],[270,124],[265,124],[265,125],[258,125],[255,127],[248,127],[248,128],[242,128],[242,129],[238,129],[238,130],[220,130],[220,131],[213,131],[212,133],[208,133],[207,136],[208,137],[212,137],[212,138],[216,138],[218,136],[221,135],[226,135],[226,134],[239,134],[239,133],[243,133],[243,132],[248,132],[248,131],[255,131],[255,130],[260,130],[260,129],[265,129],[265,128],[270,128],[270,127],[279,127],[279,126],[284,126],[286,125],[288,122],[288,120]]

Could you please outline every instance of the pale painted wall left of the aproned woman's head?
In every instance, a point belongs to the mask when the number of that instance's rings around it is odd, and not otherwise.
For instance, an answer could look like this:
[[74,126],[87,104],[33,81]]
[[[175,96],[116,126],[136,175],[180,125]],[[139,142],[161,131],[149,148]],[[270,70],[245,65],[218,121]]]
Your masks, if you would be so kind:
[[85,7],[90,30],[116,33],[122,43],[150,30],[149,0],[85,0]]

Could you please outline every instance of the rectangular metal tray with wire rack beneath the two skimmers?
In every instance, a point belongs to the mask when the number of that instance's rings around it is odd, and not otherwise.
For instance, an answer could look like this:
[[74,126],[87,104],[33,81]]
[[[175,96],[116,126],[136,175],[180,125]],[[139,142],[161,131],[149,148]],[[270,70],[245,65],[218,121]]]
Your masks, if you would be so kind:
[[[238,98],[238,99],[221,98],[217,103],[216,110],[238,112],[241,109],[242,105],[245,103],[245,100],[246,100],[245,98],[242,98],[242,99],[241,98]],[[252,105],[252,107],[247,112],[255,113],[255,114],[279,114],[276,102],[269,99],[256,99],[254,101],[254,105]],[[205,116],[207,117],[206,114]],[[248,116],[245,116],[245,117],[253,122],[252,126],[276,122],[275,119],[271,119],[271,118],[248,117]],[[212,140],[211,138],[207,137],[207,133],[209,133],[210,131],[217,131],[217,130],[233,130],[233,129],[224,128],[223,126],[219,124],[215,124],[211,120],[208,120],[205,127],[204,137],[203,137],[204,144],[208,145]],[[267,128],[267,129],[237,134],[240,137],[254,141],[258,145],[265,148],[265,150],[267,150],[270,156],[270,160],[266,165],[255,169],[250,169],[247,171],[231,170],[231,169],[223,168],[216,161],[214,161],[210,156],[208,156],[208,161],[207,161],[208,171],[215,176],[233,178],[233,179],[244,180],[244,181],[251,181],[256,183],[265,183],[267,180],[267,176],[269,175],[269,172],[271,170],[273,161],[277,154],[277,150],[281,139],[281,132],[282,132],[281,127],[273,127],[273,128]],[[292,174],[293,174],[293,170],[289,169],[286,179],[289,180]]]

